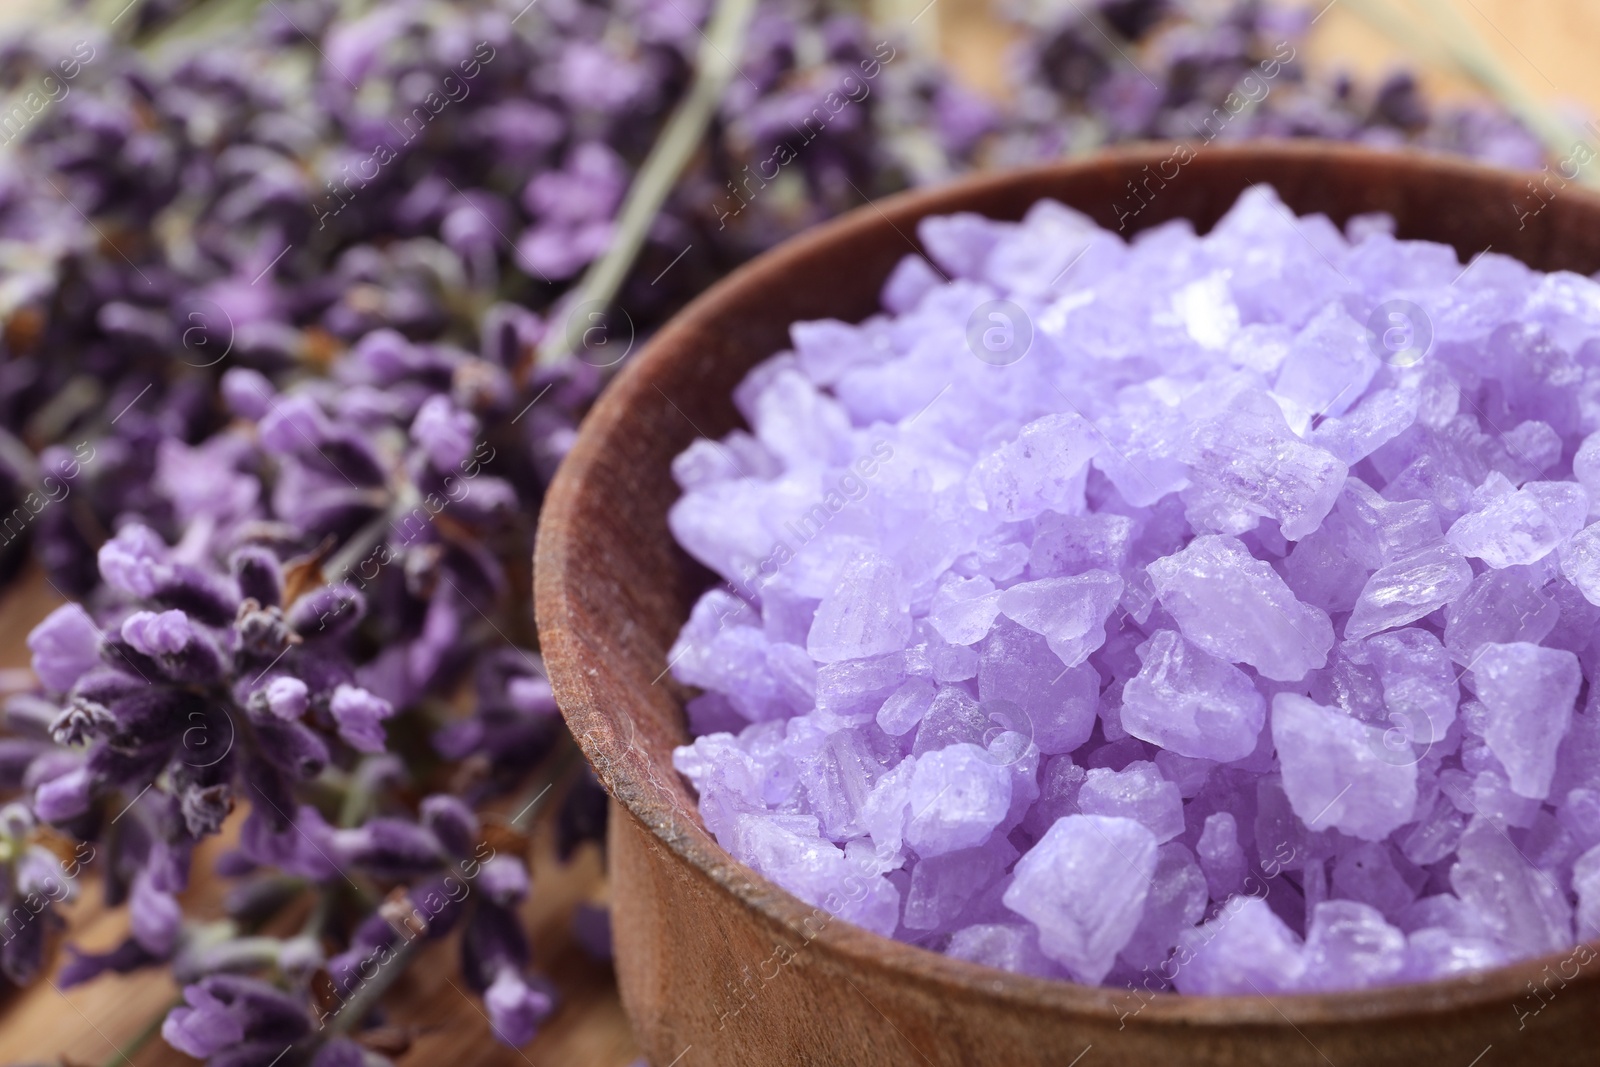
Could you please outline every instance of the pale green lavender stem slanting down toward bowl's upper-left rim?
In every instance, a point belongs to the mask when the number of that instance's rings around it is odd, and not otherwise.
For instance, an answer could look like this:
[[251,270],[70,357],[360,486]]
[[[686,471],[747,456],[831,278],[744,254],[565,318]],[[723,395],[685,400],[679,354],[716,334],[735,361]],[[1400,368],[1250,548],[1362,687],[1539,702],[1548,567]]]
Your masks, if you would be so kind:
[[[622,282],[627,280],[638,251],[650,237],[656,214],[661,213],[667,195],[706,136],[722,94],[738,70],[734,58],[742,51],[744,32],[754,10],[755,0],[717,0],[694,61],[690,91],[674,109],[650,155],[645,157],[645,165],[638,168],[618,213],[611,245],[584,272],[582,282],[570,299],[563,301],[565,307],[579,309],[590,304],[610,307],[616,302]],[[541,366],[550,366],[573,355],[576,346],[571,333],[573,330],[562,328],[546,336],[539,346]]]

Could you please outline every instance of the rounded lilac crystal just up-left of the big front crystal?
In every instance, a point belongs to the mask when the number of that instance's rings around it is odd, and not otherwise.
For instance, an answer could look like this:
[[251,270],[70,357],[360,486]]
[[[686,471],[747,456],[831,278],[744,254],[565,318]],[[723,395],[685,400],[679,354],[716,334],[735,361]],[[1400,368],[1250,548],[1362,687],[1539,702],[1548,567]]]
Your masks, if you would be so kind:
[[917,760],[909,790],[906,843],[942,856],[989,840],[1011,806],[1011,774],[974,744],[954,744]]

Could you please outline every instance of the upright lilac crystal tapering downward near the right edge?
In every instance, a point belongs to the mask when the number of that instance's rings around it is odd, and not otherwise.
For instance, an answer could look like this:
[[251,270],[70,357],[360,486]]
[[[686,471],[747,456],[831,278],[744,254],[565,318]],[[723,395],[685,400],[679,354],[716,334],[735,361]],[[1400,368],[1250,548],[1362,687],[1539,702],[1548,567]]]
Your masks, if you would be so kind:
[[1510,787],[1542,800],[1584,681],[1578,657],[1522,641],[1485,645],[1472,661],[1472,678],[1488,710],[1483,739],[1504,765]]

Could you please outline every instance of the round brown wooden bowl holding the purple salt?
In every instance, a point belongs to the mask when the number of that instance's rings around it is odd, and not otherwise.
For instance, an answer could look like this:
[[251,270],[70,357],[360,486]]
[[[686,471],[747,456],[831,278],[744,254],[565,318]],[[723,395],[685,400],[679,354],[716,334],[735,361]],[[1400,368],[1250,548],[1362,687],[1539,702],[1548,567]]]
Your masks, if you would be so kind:
[[[938,1064],[1085,1067],[1491,1067],[1600,1062],[1600,944],[1496,971],[1366,992],[1142,998],[1010,974],[830,920],[734,861],[672,769],[688,739],[666,651],[712,576],[667,533],[670,459],[739,424],[730,390],[787,347],[789,323],[877,310],[926,214],[1018,219],[1054,197],[1115,229],[1205,229],[1251,184],[1342,222],[1387,211],[1402,237],[1546,270],[1600,269],[1600,197],[1542,211],[1526,174],[1315,142],[1170,147],[986,174],[893,197],[750,262],[674,318],[618,378],[544,504],[536,601],[562,712],[614,798],[613,923],[622,1001],[656,1067]],[[1178,171],[1173,178],[1173,171]],[[1520,218],[1523,213],[1523,218]]]

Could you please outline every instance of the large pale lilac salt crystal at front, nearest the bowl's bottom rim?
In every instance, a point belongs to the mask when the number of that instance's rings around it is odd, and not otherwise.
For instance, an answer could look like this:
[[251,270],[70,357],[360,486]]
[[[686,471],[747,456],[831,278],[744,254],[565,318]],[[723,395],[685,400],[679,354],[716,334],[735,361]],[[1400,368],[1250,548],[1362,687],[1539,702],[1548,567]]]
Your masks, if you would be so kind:
[[1133,819],[1066,816],[1016,862],[1005,905],[1038,926],[1045,955],[1093,985],[1139,926],[1157,851]]

